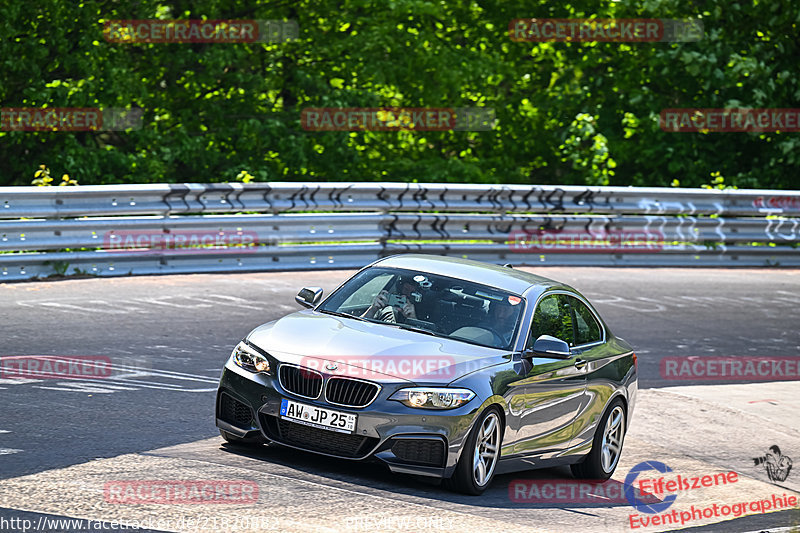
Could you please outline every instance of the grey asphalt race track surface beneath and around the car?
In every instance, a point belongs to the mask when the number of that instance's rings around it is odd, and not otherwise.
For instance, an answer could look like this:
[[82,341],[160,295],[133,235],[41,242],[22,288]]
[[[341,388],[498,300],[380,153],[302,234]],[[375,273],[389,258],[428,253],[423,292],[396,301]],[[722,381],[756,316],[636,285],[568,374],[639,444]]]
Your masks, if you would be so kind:
[[[800,356],[800,270],[530,270],[582,291],[639,356],[638,403],[608,487],[621,487],[635,465],[658,461],[684,476],[738,473],[729,485],[680,492],[670,508],[678,513],[800,495],[800,465],[778,482],[753,461],[772,445],[800,460],[799,377],[675,380],[660,367],[677,356]],[[782,528],[800,523],[797,507],[773,503],[766,513],[645,527],[624,497],[542,502],[515,493],[520,479],[568,480],[562,469],[498,476],[472,498],[376,464],[223,444],[214,390],[232,347],[253,327],[299,309],[300,287],[328,292],[351,273],[0,285],[0,356],[97,356],[113,369],[97,379],[0,376],[0,531],[23,531],[23,520],[28,531],[42,523],[50,525],[39,531],[101,531],[94,521],[121,520],[154,531],[448,533],[789,531]],[[257,503],[126,504],[104,493],[120,480],[202,479],[254,483]],[[83,520],[48,522],[63,517]]]

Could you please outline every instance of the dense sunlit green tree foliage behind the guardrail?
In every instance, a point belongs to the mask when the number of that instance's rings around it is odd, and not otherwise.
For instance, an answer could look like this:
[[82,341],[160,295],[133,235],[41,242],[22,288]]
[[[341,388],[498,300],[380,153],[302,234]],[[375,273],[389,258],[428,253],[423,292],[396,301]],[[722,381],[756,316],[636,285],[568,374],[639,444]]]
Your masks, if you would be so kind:
[[[512,19],[700,18],[687,43],[513,42]],[[295,20],[280,43],[111,43],[114,19]],[[40,0],[0,6],[0,107],[140,107],[0,131],[0,184],[367,180],[797,187],[798,133],[674,133],[664,108],[797,106],[789,0]],[[306,107],[490,107],[490,131],[311,132]],[[713,174],[713,176],[712,176]]]

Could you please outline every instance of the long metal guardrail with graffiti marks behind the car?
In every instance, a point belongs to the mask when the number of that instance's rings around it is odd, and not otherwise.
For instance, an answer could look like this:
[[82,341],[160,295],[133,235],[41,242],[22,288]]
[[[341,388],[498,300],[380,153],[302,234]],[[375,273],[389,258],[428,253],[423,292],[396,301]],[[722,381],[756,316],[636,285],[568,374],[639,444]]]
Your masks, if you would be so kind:
[[0,189],[0,281],[513,264],[800,266],[800,191],[405,183]]

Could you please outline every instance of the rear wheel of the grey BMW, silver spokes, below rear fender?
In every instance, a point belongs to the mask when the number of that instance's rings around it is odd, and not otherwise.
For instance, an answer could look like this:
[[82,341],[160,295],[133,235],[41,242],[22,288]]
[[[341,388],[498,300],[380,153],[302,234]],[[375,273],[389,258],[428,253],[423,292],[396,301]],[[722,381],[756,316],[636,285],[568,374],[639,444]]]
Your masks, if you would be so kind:
[[579,479],[605,481],[617,468],[625,439],[625,408],[617,398],[609,406],[592,442],[592,451],[582,462],[570,465],[572,475]]

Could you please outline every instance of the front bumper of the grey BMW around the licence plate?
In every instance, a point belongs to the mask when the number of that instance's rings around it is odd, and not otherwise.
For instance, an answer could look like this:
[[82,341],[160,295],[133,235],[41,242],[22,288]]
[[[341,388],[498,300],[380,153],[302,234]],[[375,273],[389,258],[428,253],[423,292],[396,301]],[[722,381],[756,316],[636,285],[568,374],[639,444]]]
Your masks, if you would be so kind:
[[[445,411],[414,409],[388,399],[396,390],[410,386],[409,382],[381,385],[378,397],[367,407],[342,407],[296,396],[284,390],[274,375],[253,374],[229,360],[217,392],[216,422],[220,429],[239,437],[263,436],[284,446],[340,459],[375,457],[393,472],[450,477],[480,411],[479,399]],[[356,414],[355,431],[342,434],[281,419],[283,398]]]

